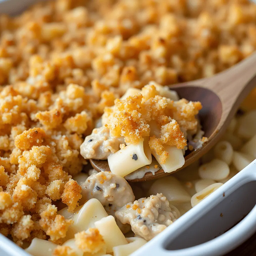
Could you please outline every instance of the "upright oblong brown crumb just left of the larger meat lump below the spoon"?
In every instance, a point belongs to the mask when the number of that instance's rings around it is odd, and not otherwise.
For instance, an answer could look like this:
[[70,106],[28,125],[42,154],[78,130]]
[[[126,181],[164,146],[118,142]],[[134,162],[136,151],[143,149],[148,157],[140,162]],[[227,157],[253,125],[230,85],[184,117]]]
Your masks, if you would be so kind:
[[63,194],[61,195],[62,202],[68,206],[68,211],[72,212],[78,206],[78,200],[82,198],[81,186],[73,179],[64,186]]

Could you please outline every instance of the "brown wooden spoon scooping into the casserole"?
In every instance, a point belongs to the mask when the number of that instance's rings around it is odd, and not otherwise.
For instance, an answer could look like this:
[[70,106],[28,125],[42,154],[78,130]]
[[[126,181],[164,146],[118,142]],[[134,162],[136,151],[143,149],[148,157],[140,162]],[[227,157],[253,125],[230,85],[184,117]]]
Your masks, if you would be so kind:
[[[203,108],[198,116],[205,131],[208,142],[185,156],[183,169],[210,150],[225,132],[239,105],[248,93],[256,86],[256,53],[239,62],[237,65],[210,78],[171,85],[180,98],[200,101]],[[255,99],[256,100],[256,99]],[[92,167],[97,171],[110,171],[107,160],[90,159]],[[172,172],[174,173],[174,172]],[[146,173],[141,179],[128,180],[138,182],[168,175],[163,169],[155,175]]]

